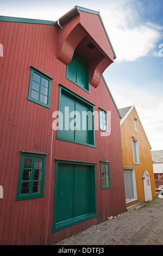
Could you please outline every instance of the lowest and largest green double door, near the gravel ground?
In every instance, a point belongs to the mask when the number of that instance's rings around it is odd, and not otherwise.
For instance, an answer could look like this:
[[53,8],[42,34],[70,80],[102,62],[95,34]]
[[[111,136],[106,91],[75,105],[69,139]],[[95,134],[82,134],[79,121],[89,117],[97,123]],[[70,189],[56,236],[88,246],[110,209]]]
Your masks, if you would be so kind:
[[53,231],[96,217],[95,166],[58,163]]

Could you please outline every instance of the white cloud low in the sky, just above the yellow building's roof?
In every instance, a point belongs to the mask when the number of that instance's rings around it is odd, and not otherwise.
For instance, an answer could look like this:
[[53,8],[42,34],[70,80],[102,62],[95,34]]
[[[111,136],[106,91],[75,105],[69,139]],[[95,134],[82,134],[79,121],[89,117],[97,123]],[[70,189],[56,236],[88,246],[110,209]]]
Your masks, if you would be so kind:
[[135,105],[152,150],[163,150],[163,96],[154,95],[136,84],[109,81],[118,108]]

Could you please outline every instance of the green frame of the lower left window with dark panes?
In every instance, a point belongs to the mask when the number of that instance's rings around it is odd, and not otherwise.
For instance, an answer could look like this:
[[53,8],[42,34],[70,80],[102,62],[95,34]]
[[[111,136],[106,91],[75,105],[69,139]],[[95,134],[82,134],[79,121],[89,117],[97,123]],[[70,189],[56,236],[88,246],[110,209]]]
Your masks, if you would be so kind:
[[[22,179],[23,179],[23,170],[26,169],[24,168],[24,159],[25,157],[32,157],[33,159],[35,158],[41,158],[42,159],[42,168],[35,168],[34,167],[34,161],[32,160],[32,167],[27,168],[31,169],[31,177],[29,181],[23,181],[23,182],[30,182],[30,188],[29,188],[29,193],[26,194],[21,194],[21,187],[22,187]],[[32,153],[32,152],[27,152],[27,151],[21,151],[21,161],[20,161],[20,172],[18,176],[18,186],[17,186],[17,196],[16,200],[23,200],[23,199],[30,199],[30,198],[39,198],[44,196],[44,182],[45,182],[45,168],[46,168],[46,157],[47,154],[42,154],[42,153]],[[34,169],[41,169],[41,179],[39,180],[34,180]],[[40,192],[33,192],[33,183],[35,181],[40,181]],[[32,184],[32,186],[31,186]]]

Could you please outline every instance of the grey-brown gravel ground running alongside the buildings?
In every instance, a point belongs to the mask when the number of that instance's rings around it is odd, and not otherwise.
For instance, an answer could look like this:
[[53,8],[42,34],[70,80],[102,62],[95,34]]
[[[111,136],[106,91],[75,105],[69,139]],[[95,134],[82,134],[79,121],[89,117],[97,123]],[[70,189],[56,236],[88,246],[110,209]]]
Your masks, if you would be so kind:
[[81,231],[54,245],[163,245],[163,198]]

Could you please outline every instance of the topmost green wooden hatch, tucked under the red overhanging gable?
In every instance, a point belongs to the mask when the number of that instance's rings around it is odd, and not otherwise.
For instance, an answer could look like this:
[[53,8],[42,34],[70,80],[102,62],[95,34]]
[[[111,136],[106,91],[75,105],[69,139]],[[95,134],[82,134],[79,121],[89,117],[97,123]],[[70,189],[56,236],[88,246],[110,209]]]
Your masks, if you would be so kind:
[[77,51],[74,51],[72,60],[67,66],[66,78],[86,92],[90,92],[89,62]]

